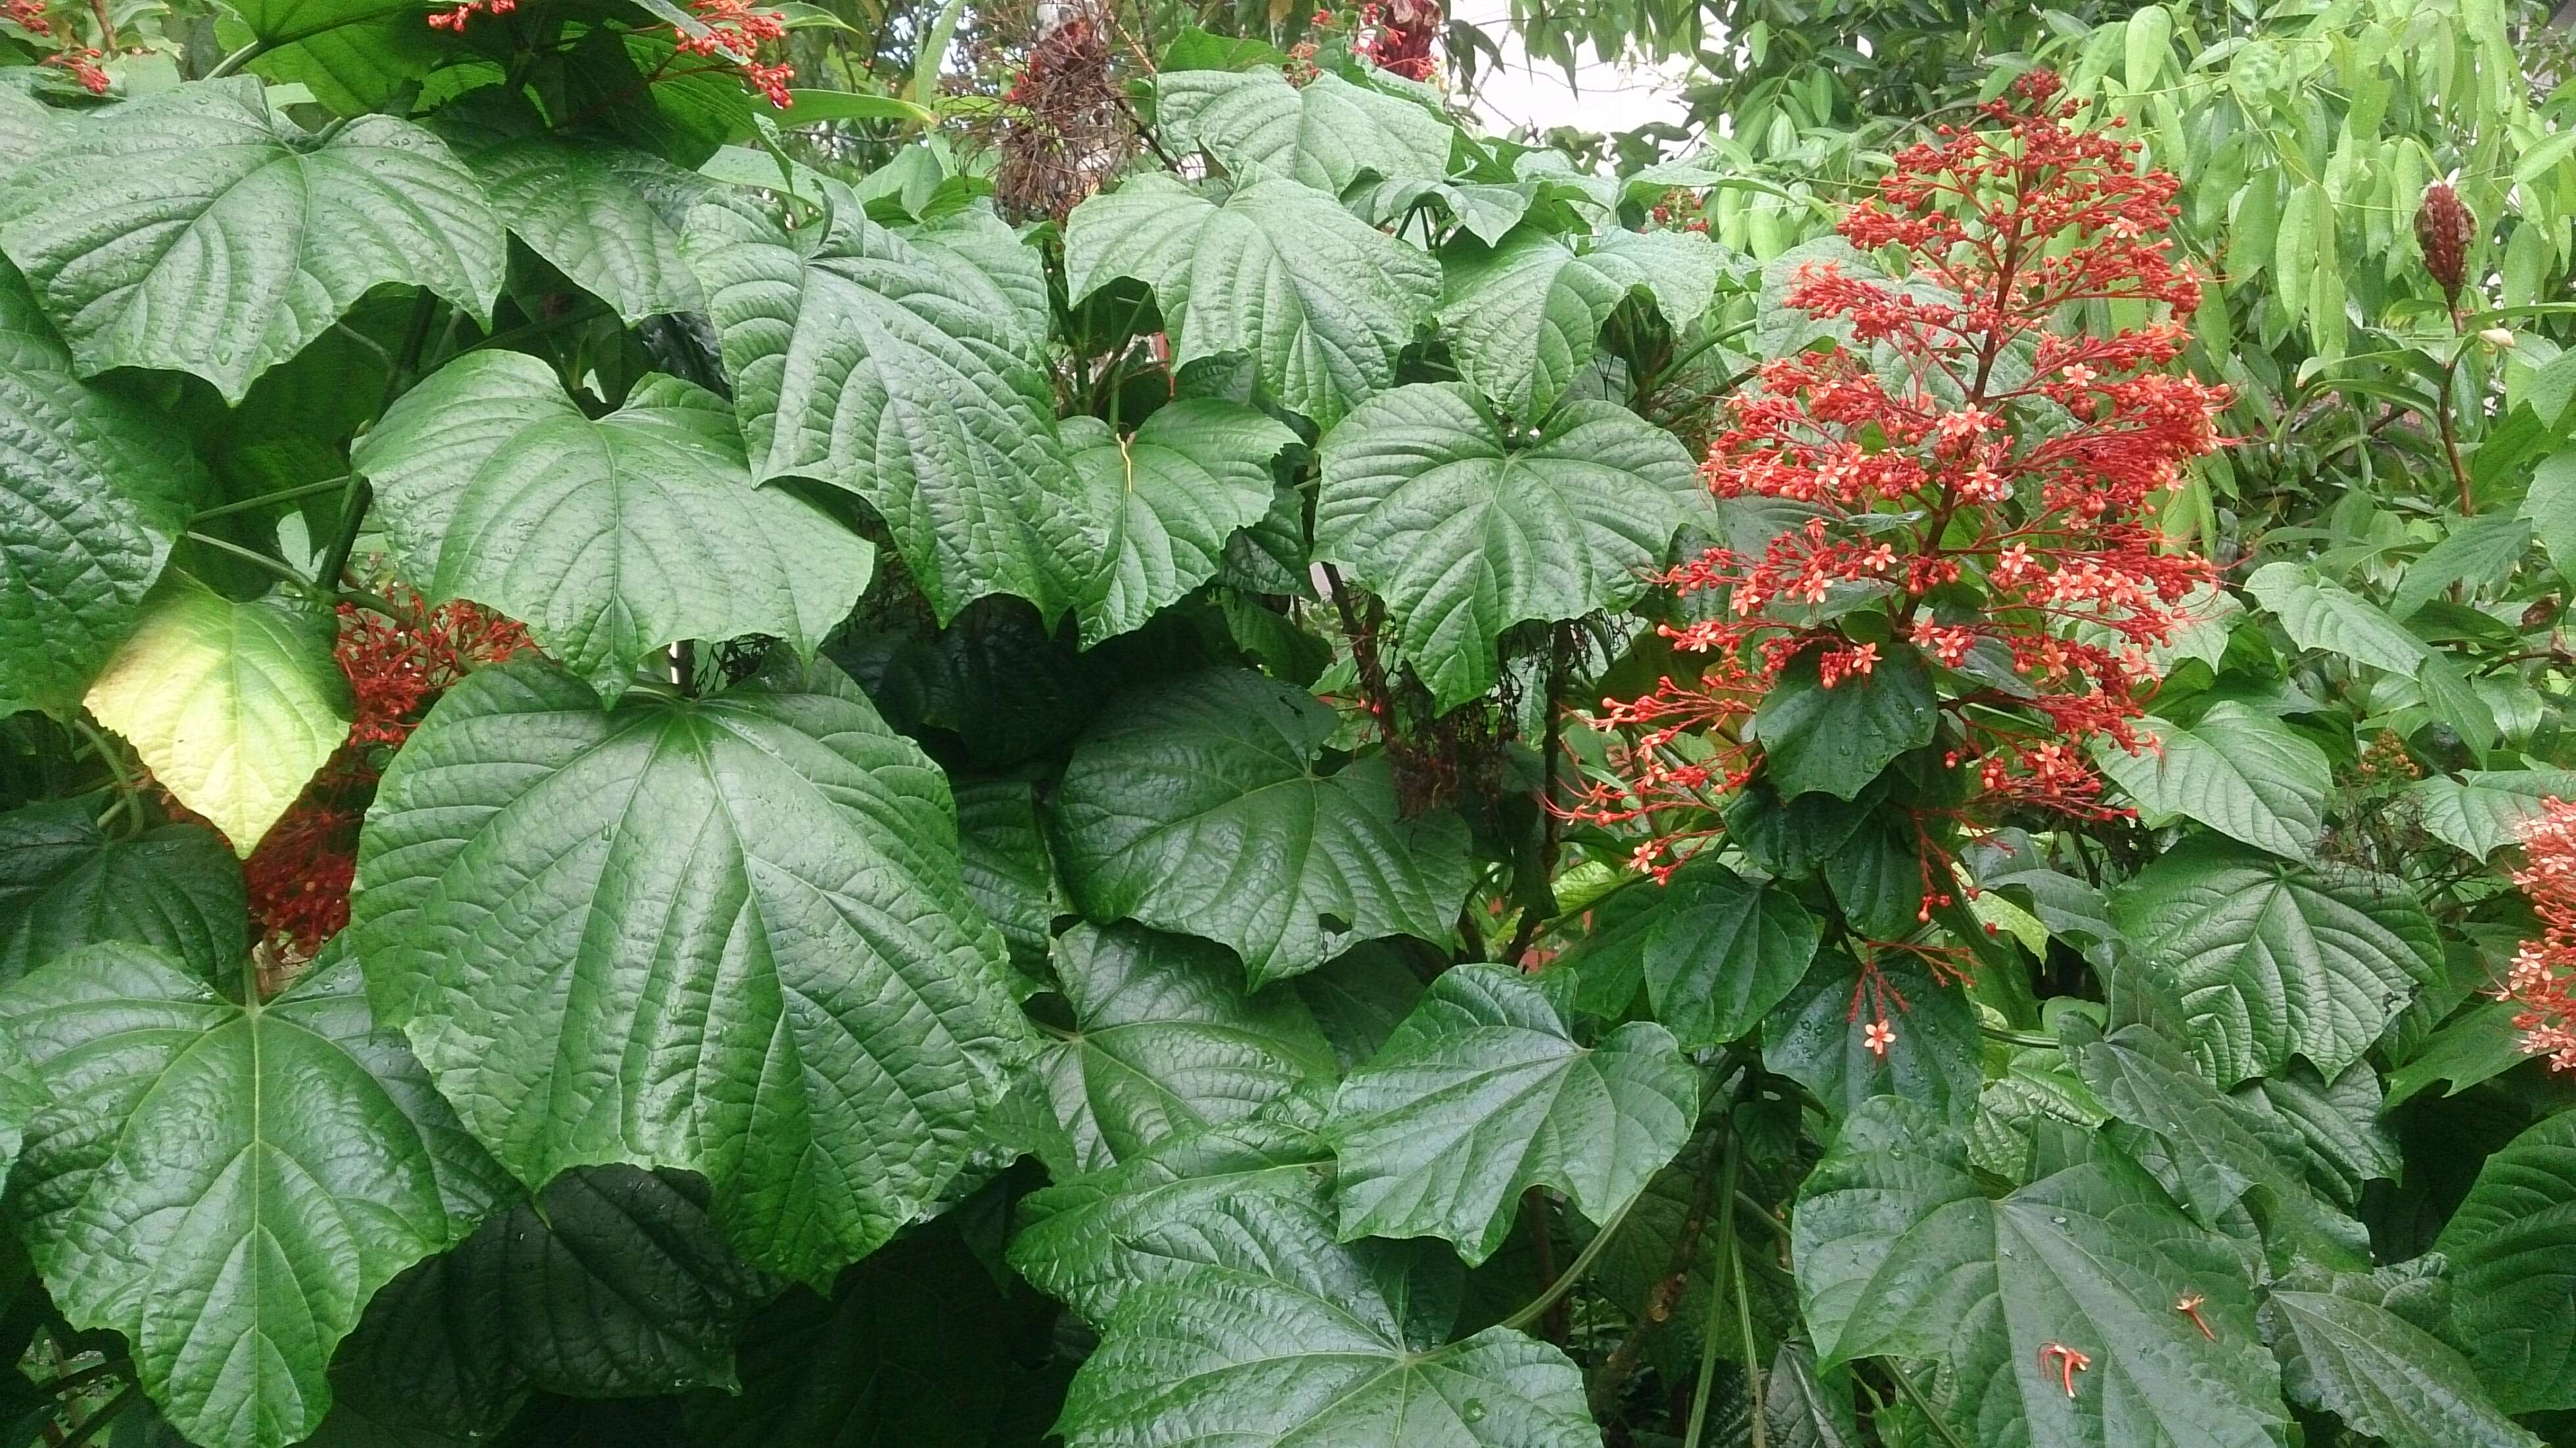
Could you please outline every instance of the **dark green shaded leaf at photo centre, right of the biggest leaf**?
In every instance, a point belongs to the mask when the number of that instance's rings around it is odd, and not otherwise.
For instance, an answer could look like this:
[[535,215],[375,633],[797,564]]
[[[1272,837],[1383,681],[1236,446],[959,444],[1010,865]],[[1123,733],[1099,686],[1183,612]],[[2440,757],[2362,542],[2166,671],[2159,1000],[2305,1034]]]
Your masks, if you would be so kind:
[[1239,670],[1113,701],[1051,801],[1074,904],[1221,940],[1255,987],[1360,940],[1445,940],[1466,824],[1404,819],[1383,757],[1324,773],[1332,729],[1303,688]]

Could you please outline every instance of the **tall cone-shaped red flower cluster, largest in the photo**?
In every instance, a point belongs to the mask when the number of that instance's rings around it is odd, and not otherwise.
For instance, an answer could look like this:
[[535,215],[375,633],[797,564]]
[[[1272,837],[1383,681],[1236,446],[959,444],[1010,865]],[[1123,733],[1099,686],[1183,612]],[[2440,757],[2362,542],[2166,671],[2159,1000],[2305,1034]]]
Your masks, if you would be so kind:
[[[2213,569],[2166,551],[2146,508],[2221,446],[2226,389],[2164,371],[2187,340],[2174,319],[2056,330],[2074,304],[2182,314],[2200,299],[2159,240],[2177,180],[2136,170],[2136,142],[2074,129],[2056,93],[2053,75],[2025,77],[1986,126],[1904,149],[1844,216],[1852,245],[1901,250],[1911,276],[1798,271],[1788,304],[1842,319],[1850,345],[1765,363],[1703,472],[1718,497],[1780,500],[1803,523],[1667,575],[1713,600],[1664,629],[1705,670],[1602,706],[1625,734],[1623,778],[1579,817],[1646,827],[1641,868],[1669,876],[1716,835],[1713,796],[1759,770],[1741,724],[1808,652],[1826,688],[1893,649],[1955,670],[1947,763],[1976,770],[1971,809],[2120,814],[2084,745],[2154,745],[2133,727],[2156,685],[2148,649]],[[1947,902],[1937,876],[1927,861],[1924,912]]]

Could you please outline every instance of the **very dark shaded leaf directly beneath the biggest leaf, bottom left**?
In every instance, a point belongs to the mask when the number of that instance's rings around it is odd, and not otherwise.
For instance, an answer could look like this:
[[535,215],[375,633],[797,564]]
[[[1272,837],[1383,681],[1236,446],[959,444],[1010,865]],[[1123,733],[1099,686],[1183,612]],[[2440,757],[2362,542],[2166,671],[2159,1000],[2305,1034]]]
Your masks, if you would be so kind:
[[497,1433],[528,1391],[734,1386],[734,1335],[778,1283],[680,1172],[577,1167],[394,1278],[332,1360],[325,1443]]

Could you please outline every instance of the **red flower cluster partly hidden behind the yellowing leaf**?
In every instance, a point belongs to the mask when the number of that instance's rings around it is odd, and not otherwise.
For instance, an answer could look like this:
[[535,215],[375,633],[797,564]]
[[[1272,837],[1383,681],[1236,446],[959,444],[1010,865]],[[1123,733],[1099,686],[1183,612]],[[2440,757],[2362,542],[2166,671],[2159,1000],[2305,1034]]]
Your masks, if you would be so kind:
[[392,618],[340,605],[335,657],[358,706],[348,742],[242,861],[250,917],[304,956],[348,925],[358,822],[392,750],[456,680],[531,647],[526,629],[464,600],[428,608],[397,587],[392,603]]

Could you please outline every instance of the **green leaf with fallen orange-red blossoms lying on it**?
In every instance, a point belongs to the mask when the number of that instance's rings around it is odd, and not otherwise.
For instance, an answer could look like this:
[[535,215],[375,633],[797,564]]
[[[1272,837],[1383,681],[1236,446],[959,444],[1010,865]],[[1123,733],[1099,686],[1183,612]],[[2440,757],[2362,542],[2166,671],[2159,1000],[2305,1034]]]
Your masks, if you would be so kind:
[[[2277,1448],[2287,1415],[2231,1252],[2117,1154],[2002,1201],[1932,1110],[1873,1100],[1808,1175],[1798,1293],[1824,1363],[1929,1358],[1978,1448]],[[2177,1301],[2200,1299],[2205,1337]],[[2084,1353],[2074,1373],[2048,1345]]]

